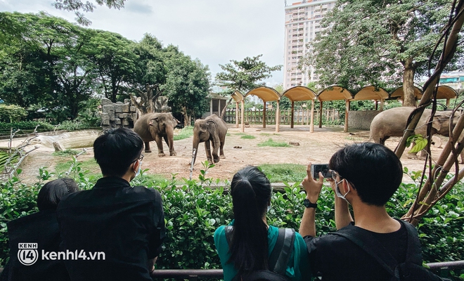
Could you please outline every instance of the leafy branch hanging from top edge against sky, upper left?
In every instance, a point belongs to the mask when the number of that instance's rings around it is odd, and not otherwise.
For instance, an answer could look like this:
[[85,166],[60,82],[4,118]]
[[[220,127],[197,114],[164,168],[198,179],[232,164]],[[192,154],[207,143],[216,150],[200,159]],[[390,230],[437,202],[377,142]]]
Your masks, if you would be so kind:
[[[127,0],[96,0],[96,4],[99,6],[108,6],[108,8],[124,8],[124,2]],[[85,3],[82,0],[55,0],[53,6],[58,10],[64,11],[74,11],[76,15],[76,20],[81,25],[89,26],[91,25],[91,21],[85,18],[84,14],[80,11],[84,11],[86,13],[93,12],[96,6],[91,1],[86,1]]]

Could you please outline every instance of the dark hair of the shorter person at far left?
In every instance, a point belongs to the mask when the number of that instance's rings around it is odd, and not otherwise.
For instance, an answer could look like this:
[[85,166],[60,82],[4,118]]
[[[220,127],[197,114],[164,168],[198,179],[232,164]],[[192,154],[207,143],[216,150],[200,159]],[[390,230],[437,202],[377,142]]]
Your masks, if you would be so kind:
[[79,190],[77,183],[72,178],[58,178],[49,181],[39,191],[37,207],[39,211],[56,210],[58,203],[65,195]]

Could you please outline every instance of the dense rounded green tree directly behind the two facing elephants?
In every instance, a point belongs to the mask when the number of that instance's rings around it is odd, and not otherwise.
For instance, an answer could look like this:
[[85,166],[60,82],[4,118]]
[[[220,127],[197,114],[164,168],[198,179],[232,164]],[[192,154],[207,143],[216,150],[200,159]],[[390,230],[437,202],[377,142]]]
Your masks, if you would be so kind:
[[210,69],[200,60],[192,60],[183,53],[172,55],[167,60],[169,72],[163,86],[174,111],[183,115],[183,124],[191,126],[193,117],[207,111],[210,93]]

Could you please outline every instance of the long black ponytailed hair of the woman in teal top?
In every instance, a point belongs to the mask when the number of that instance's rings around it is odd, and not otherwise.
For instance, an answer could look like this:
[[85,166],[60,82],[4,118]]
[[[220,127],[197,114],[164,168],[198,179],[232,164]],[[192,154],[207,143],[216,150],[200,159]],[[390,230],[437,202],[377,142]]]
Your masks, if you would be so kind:
[[271,200],[271,183],[257,167],[246,166],[233,176],[233,233],[229,252],[238,276],[268,269],[267,226],[263,221]]

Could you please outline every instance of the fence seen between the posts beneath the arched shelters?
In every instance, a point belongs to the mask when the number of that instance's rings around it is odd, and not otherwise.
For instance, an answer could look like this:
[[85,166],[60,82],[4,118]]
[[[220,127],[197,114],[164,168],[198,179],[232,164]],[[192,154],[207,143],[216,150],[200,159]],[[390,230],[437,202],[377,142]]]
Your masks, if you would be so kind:
[[[314,110],[315,121],[318,122],[319,109]],[[226,123],[234,124],[236,123],[236,110],[228,109],[226,115],[224,116],[224,121]],[[239,123],[240,115],[238,115]],[[292,119],[292,110],[281,110],[280,111],[280,124],[290,125]],[[340,119],[340,113],[335,109],[323,109],[322,110],[322,119],[327,122],[342,122]],[[243,113],[243,122],[247,124],[262,124],[263,123],[263,111],[262,110],[245,110]],[[295,110],[293,122],[297,125],[309,125],[311,122],[311,109],[307,108],[306,110]],[[276,124],[276,110],[266,110],[266,124]]]

